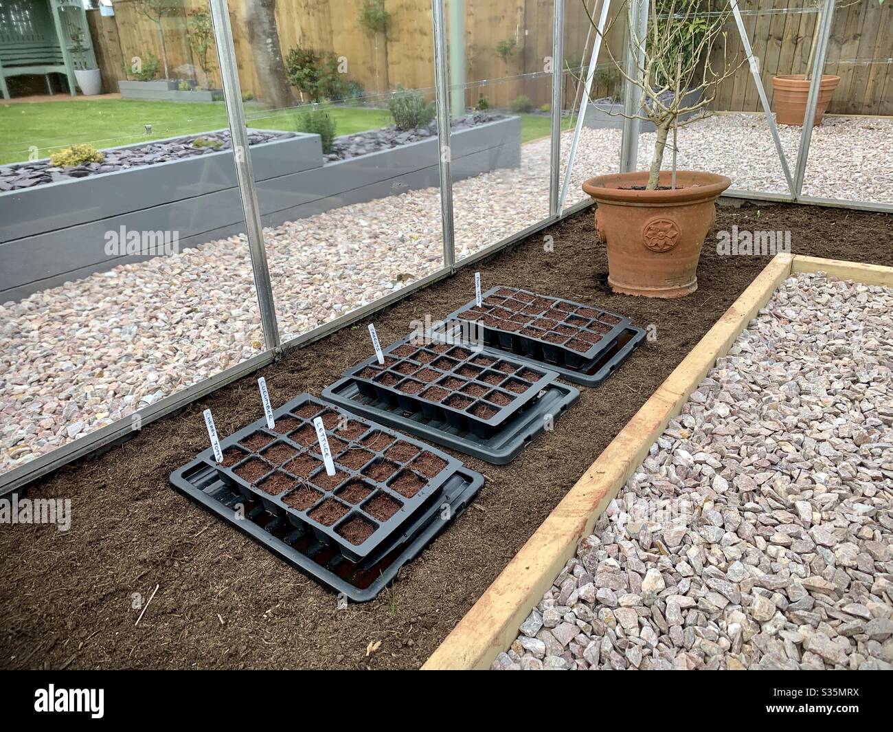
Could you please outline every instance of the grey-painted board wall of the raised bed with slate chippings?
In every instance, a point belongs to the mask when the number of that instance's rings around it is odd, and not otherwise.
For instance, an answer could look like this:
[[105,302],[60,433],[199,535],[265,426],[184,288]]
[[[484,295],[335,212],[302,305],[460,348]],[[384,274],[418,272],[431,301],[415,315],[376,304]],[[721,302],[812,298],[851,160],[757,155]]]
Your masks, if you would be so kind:
[[[457,131],[451,147],[454,180],[517,167],[521,120]],[[296,133],[251,155],[264,226],[439,181],[436,138],[324,164],[319,136]],[[0,193],[0,222],[0,302],[149,258],[106,255],[122,226],[177,231],[181,249],[245,231],[229,150]]]

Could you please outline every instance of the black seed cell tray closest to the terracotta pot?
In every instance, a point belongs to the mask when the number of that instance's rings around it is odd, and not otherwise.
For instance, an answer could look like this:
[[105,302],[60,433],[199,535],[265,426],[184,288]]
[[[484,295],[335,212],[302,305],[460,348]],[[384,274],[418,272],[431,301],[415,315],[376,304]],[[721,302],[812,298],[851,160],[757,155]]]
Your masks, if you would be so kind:
[[557,366],[579,369],[609,348],[630,319],[581,302],[513,287],[490,288],[450,313],[450,321],[479,324],[488,346]]

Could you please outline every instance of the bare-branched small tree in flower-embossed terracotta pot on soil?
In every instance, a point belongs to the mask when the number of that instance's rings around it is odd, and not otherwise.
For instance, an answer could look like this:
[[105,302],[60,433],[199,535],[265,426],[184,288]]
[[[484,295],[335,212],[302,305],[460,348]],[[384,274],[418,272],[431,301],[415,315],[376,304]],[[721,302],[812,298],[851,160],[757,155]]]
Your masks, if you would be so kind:
[[[624,7],[630,10],[624,3],[612,25]],[[744,63],[726,59],[724,26],[730,5],[722,3],[709,14],[703,10],[701,0],[651,2],[645,37],[639,38],[629,18],[630,44],[640,62],[628,70],[611,55],[621,78],[641,95],[636,113],[624,116],[655,126],[647,171],[602,175],[583,183],[597,202],[596,232],[607,246],[608,283],[615,292],[680,298],[697,290],[697,262],[714,223],[715,201],[731,185],[724,175],[675,169],[676,130],[693,121],[691,115],[709,105],[722,80]],[[595,27],[591,15],[589,21]],[[610,55],[610,46],[605,46]],[[720,67],[714,65],[717,57]],[[671,132],[674,163],[672,170],[663,170]]]

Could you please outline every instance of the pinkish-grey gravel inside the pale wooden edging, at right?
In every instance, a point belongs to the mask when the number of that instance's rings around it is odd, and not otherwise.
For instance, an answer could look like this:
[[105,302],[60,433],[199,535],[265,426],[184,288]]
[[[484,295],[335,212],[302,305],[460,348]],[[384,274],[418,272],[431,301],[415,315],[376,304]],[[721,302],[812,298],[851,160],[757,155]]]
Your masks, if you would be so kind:
[[784,282],[539,602],[551,667],[893,669],[891,369],[893,289]]

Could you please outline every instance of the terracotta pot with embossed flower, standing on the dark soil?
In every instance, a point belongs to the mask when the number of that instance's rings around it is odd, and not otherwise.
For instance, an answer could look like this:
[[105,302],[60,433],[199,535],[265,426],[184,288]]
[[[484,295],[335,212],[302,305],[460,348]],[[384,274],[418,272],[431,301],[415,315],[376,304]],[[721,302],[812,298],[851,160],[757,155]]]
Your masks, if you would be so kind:
[[[661,171],[658,184],[671,180],[670,171]],[[714,202],[731,181],[677,171],[676,189],[634,189],[647,181],[647,172],[621,172],[583,183],[598,204],[596,233],[607,244],[608,284],[626,295],[681,298],[697,290],[697,261],[714,225]]]

